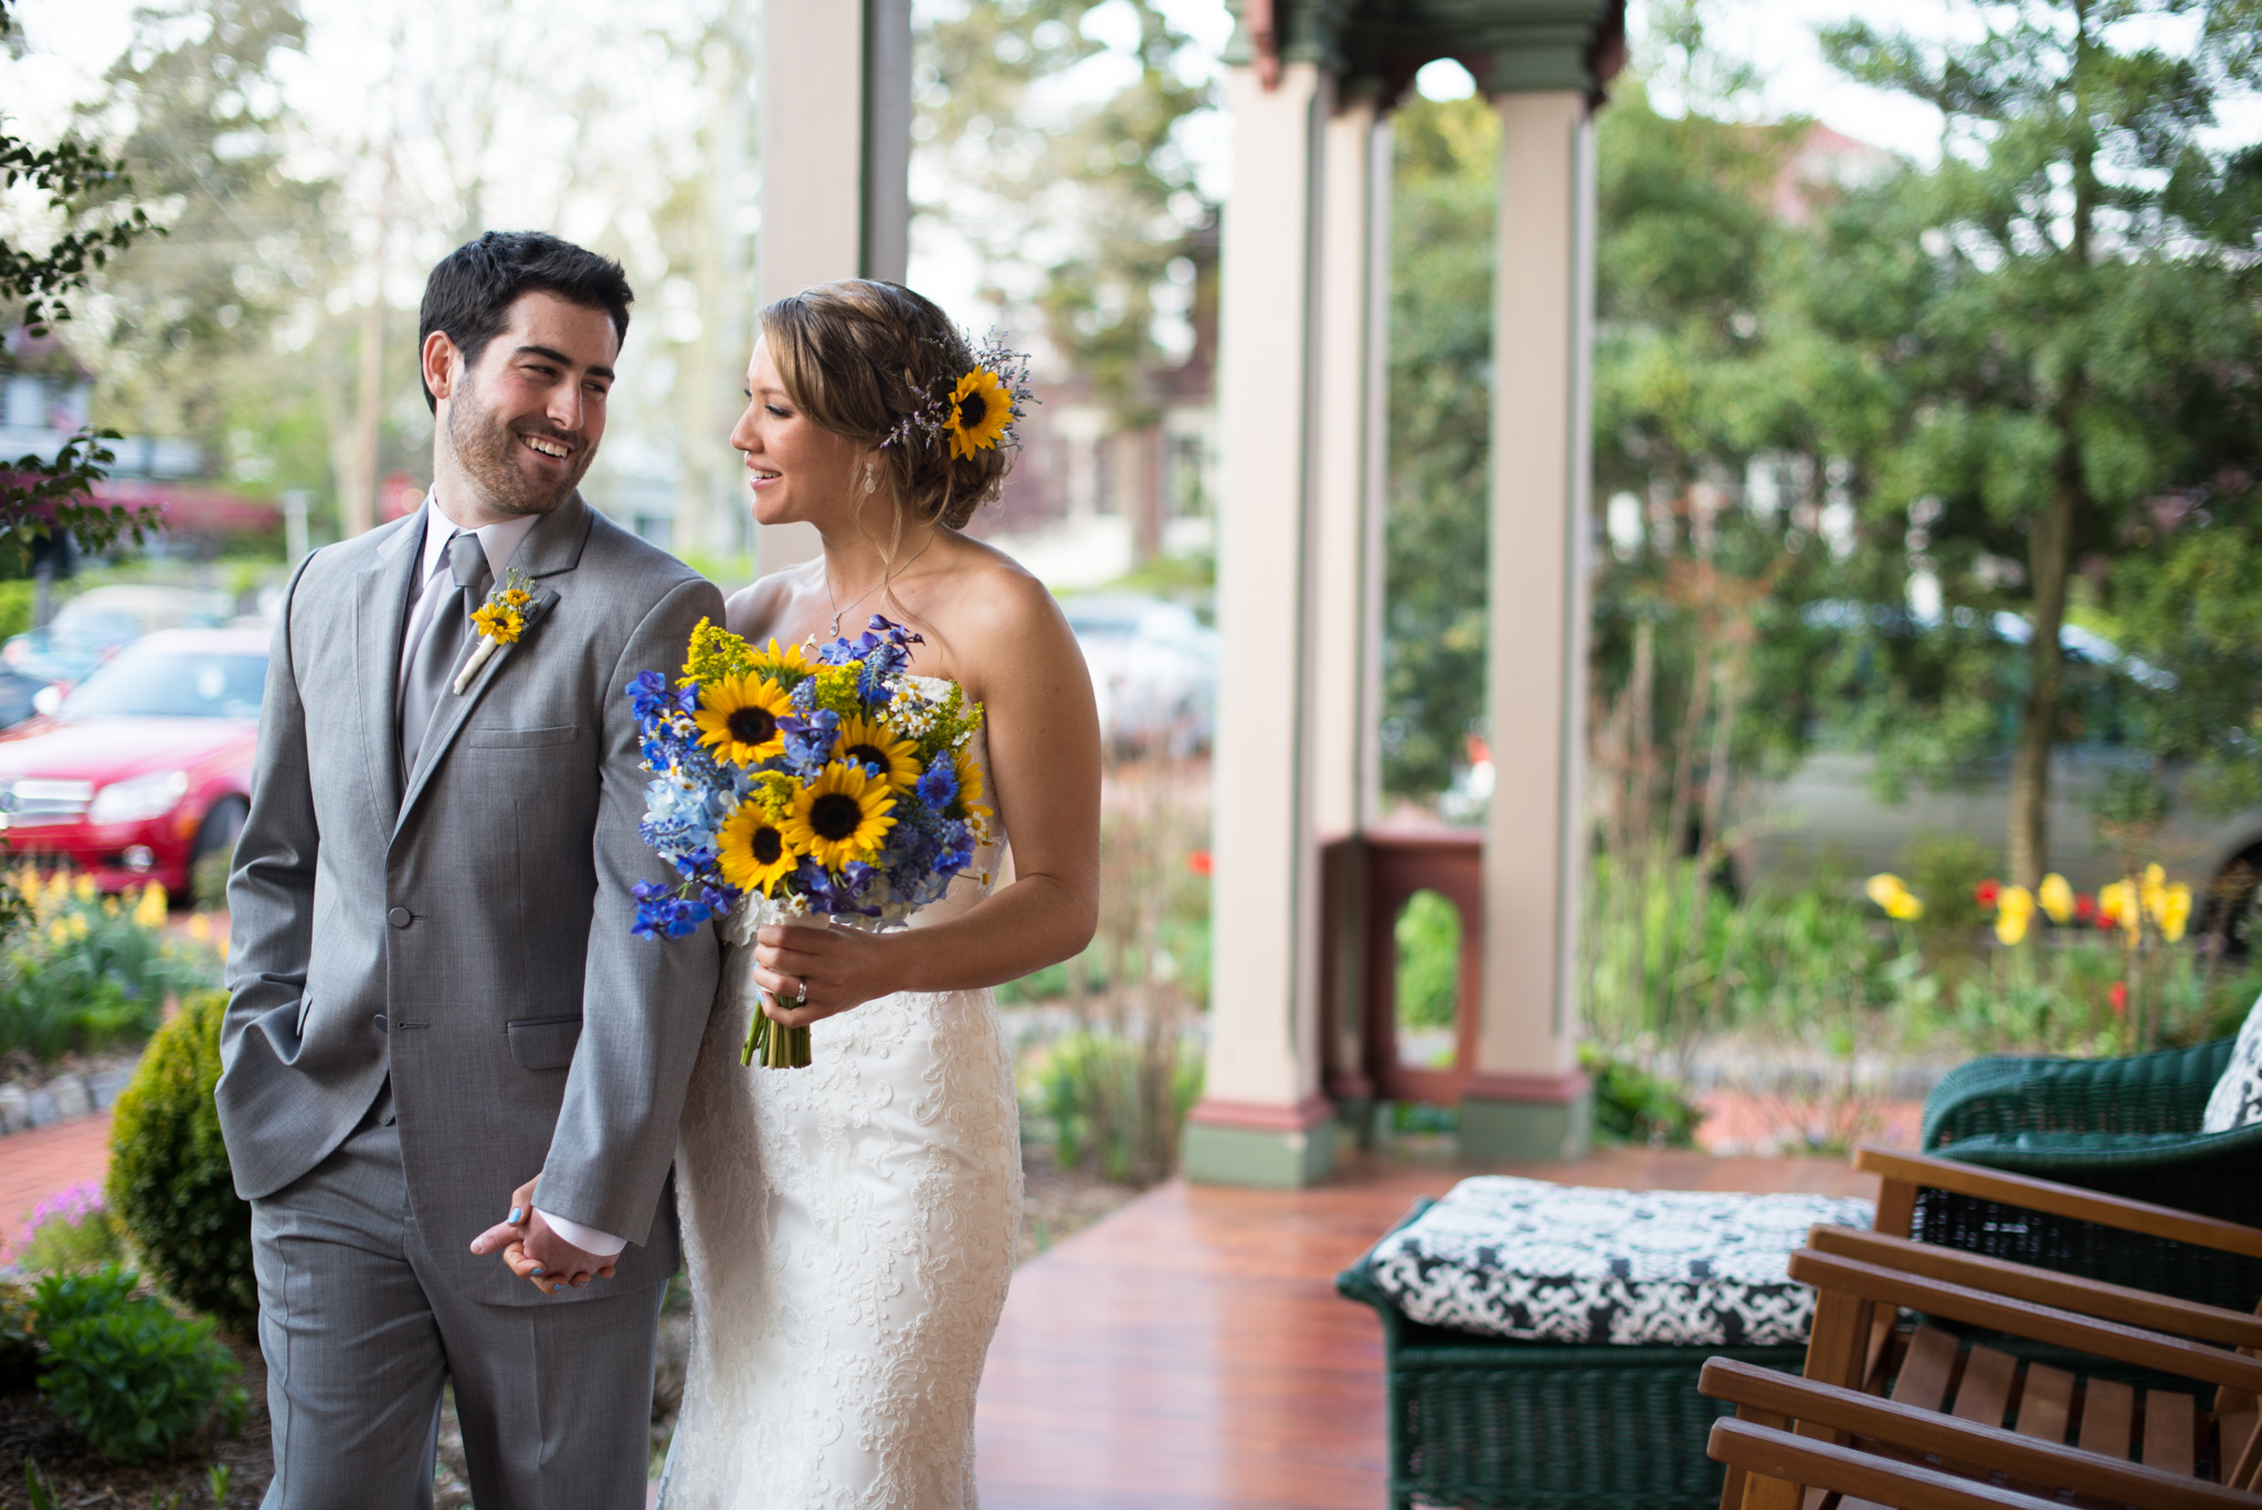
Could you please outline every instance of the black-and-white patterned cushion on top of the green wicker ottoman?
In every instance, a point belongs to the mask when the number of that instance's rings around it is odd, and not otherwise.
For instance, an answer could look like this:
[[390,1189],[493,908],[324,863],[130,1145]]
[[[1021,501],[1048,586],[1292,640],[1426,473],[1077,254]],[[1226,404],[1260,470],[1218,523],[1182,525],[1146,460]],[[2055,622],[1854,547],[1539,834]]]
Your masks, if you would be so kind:
[[1484,1175],[1382,1238],[1375,1284],[1416,1322],[1536,1342],[1803,1342],[1807,1227],[1868,1227],[1844,1195],[1599,1191]]

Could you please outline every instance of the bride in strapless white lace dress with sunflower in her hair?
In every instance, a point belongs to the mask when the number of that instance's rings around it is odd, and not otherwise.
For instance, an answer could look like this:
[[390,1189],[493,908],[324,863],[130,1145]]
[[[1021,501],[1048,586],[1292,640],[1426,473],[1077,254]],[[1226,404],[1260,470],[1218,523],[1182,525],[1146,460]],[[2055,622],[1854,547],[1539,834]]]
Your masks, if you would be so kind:
[[[959,530],[1009,448],[921,423],[973,353],[930,301],[828,283],[762,310],[731,432],[758,523],[823,555],[740,591],[728,627],[803,643],[873,611],[912,670],[986,709],[991,844],[909,930],[733,944],[676,1159],[692,1356],[665,1510],[975,1505],[975,1388],[1013,1272],[1020,1132],[991,989],[1083,949],[1097,915],[1099,724],[1052,595]],[[995,419],[995,414],[991,414]],[[1011,881],[1004,840],[1013,835]],[[744,1069],[749,998],[812,1026],[810,1069]]]

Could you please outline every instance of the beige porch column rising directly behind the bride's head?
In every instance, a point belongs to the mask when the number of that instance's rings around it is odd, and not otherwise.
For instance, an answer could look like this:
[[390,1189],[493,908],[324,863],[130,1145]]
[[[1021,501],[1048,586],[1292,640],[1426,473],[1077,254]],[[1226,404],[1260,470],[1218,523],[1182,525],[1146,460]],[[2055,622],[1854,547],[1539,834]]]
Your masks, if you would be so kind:
[[[912,0],[765,5],[760,106],[756,310],[835,278],[900,283],[912,249]],[[821,548],[810,525],[756,534],[765,573]]]

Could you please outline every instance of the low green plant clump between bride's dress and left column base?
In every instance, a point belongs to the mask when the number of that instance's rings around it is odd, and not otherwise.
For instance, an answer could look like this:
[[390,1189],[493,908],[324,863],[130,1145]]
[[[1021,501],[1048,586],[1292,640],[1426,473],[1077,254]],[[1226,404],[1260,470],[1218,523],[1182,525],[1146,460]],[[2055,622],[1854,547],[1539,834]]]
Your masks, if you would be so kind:
[[1201,1096],[1201,1046],[1176,1053],[1113,1032],[1068,1032],[1036,1069],[1031,1109],[1061,1168],[1151,1184],[1176,1166],[1179,1127]]

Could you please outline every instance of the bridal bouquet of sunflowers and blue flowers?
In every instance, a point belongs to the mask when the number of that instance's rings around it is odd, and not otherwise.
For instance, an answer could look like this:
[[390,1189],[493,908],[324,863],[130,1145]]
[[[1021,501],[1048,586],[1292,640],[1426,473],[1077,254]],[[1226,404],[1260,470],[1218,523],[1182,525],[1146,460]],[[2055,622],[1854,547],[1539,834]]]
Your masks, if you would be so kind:
[[[651,772],[638,831],[679,876],[636,885],[640,937],[713,917],[742,944],[812,915],[884,928],[941,899],[988,838],[982,704],[909,675],[916,643],[873,616],[857,638],[756,650],[701,620],[674,690],[656,670],[629,684]],[[756,1055],[805,1066],[810,1030],[756,1012],[740,1062]]]

